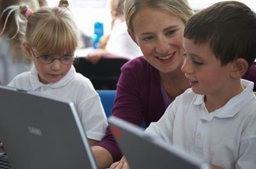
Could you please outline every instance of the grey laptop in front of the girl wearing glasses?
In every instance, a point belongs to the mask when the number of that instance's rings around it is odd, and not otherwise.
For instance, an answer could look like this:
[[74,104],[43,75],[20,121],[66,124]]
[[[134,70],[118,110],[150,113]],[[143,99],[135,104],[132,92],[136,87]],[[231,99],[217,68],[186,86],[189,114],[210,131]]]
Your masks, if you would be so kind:
[[97,168],[72,101],[0,86],[0,109],[13,169]]

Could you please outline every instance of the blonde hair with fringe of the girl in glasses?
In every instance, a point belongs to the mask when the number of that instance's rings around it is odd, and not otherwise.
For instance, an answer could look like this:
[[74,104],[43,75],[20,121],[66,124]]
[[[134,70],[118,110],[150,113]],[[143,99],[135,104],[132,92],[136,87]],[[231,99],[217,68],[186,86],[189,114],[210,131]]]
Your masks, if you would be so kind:
[[[17,13],[15,20],[22,21],[29,6],[10,6],[10,9]],[[17,30],[22,31],[22,28]],[[27,17],[25,41],[42,54],[73,54],[79,40],[72,13],[59,7],[44,7],[31,13]]]

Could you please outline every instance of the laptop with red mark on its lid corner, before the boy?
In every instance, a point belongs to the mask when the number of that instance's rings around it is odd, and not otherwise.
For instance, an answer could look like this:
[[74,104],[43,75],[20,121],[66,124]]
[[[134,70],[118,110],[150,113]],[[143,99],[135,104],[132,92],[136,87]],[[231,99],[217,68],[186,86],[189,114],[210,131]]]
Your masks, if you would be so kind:
[[139,126],[114,116],[108,123],[130,168],[210,168],[201,159],[144,133]]

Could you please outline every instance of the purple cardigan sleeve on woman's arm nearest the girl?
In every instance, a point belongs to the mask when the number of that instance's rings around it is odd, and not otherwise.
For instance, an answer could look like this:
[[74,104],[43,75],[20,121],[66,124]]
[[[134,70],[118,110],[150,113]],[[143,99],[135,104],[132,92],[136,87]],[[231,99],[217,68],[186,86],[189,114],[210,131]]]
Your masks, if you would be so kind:
[[[133,64],[134,61],[130,61],[122,67],[122,73],[116,88],[116,98],[112,115],[139,126],[143,121],[143,108],[138,86],[140,77],[134,75],[138,70],[136,69],[135,71],[133,69]],[[122,153],[109,128],[106,130],[105,137],[97,145],[107,149],[111,153],[114,162],[120,160],[122,157]]]

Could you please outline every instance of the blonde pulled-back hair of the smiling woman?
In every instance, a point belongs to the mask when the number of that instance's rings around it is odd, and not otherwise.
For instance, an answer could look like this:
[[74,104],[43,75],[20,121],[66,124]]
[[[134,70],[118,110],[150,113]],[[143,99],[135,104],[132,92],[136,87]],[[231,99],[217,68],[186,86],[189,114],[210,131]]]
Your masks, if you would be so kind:
[[170,13],[175,14],[183,21],[184,24],[193,15],[193,10],[190,8],[187,0],[125,0],[125,20],[127,27],[133,32],[133,20],[134,14],[143,8],[163,9]]

